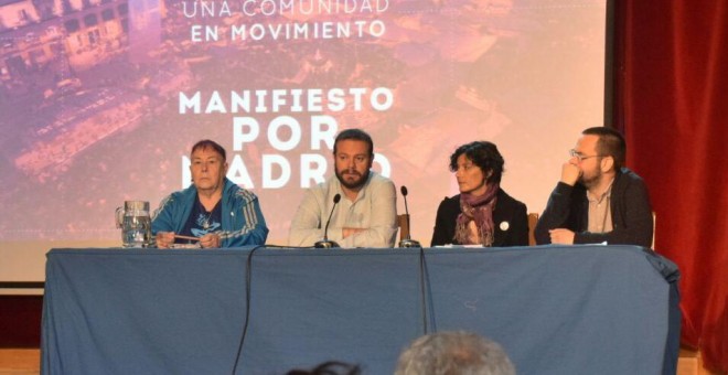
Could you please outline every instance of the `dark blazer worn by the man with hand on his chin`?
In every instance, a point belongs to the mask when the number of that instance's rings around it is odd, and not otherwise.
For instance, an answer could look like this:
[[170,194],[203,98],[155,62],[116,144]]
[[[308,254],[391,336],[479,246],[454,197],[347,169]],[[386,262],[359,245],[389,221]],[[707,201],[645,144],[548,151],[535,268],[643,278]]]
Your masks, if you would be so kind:
[[544,214],[538,218],[536,243],[550,244],[549,229],[567,228],[575,232],[575,244],[639,245],[652,244],[652,206],[644,181],[627,168],[614,176],[609,205],[612,212],[612,232],[590,233],[589,200],[581,184],[575,186],[559,182],[552,192]]

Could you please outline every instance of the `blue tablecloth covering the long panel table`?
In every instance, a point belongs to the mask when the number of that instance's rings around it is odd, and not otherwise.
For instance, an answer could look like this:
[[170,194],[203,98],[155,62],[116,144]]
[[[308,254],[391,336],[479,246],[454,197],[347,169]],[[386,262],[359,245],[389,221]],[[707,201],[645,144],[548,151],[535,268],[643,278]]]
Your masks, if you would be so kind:
[[425,331],[467,330],[518,374],[672,374],[677,278],[633,246],[53,249],[42,372],[392,374]]

